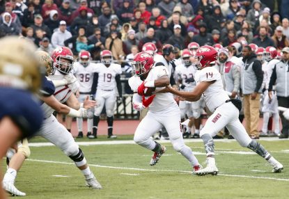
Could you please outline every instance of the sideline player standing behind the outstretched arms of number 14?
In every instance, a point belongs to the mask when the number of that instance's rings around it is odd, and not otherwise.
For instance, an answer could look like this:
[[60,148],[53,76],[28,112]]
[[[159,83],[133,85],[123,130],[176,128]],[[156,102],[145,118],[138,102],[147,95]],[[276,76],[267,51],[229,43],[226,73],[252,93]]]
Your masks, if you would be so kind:
[[[182,65],[178,65],[175,67],[175,75],[178,78],[178,82],[180,83],[180,89],[184,91],[192,91],[196,86],[196,81],[194,79],[196,74],[196,68],[192,65],[191,62],[191,52],[189,49],[184,49],[182,51]],[[197,102],[187,102],[187,101],[180,101],[180,118],[181,122],[185,120],[185,115],[187,114],[188,118],[191,120],[189,122],[189,128],[187,132],[183,134],[184,138],[189,138],[191,136],[191,129],[193,125],[193,118],[194,118],[194,125],[196,127],[192,138],[199,138],[199,129],[201,125],[201,105],[200,101]]]

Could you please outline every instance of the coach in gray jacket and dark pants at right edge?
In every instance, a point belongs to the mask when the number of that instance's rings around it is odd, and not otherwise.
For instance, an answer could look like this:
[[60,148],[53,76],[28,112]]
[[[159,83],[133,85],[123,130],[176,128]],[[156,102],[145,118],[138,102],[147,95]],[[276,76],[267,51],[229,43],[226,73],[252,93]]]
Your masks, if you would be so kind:
[[[280,62],[274,66],[268,89],[268,95],[272,99],[273,85],[276,83],[276,95],[278,105],[285,108],[289,108],[289,47],[282,49],[283,56]],[[289,121],[284,118],[283,114],[280,114],[282,122],[282,130],[279,138],[288,138]]]

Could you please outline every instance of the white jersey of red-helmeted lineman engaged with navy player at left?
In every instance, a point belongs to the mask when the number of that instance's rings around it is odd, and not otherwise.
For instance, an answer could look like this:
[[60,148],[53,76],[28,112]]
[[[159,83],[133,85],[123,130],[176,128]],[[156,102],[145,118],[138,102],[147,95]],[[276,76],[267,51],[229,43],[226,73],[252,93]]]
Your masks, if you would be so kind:
[[[49,75],[49,79],[53,80],[61,80],[63,79],[63,74],[56,70],[54,75]],[[61,103],[64,103],[68,100],[70,95],[74,92],[75,88],[77,87],[78,82],[72,83],[70,85],[65,86],[58,86],[55,88],[54,97]],[[44,118],[49,118],[52,113],[55,111],[52,107],[48,106],[47,104],[43,103],[41,108],[44,112]]]

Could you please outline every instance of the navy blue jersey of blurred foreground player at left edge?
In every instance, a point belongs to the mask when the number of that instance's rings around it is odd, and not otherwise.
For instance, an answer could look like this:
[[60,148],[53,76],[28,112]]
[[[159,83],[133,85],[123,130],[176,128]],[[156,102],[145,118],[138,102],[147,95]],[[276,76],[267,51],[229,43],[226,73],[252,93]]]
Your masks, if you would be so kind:
[[40,102],[31,93],[0,87],[0,120],[6,116],[22,130],[23,138],[38,132],[43,120]]

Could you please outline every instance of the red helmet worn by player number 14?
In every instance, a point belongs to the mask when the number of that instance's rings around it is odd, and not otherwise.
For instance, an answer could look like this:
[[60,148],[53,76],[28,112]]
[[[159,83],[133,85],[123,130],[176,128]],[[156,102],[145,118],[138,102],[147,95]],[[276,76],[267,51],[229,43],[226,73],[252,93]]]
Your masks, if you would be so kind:
[[218,51],[214,47],[205,45],[196,50],[196,69],[208,67],[217,61]]

